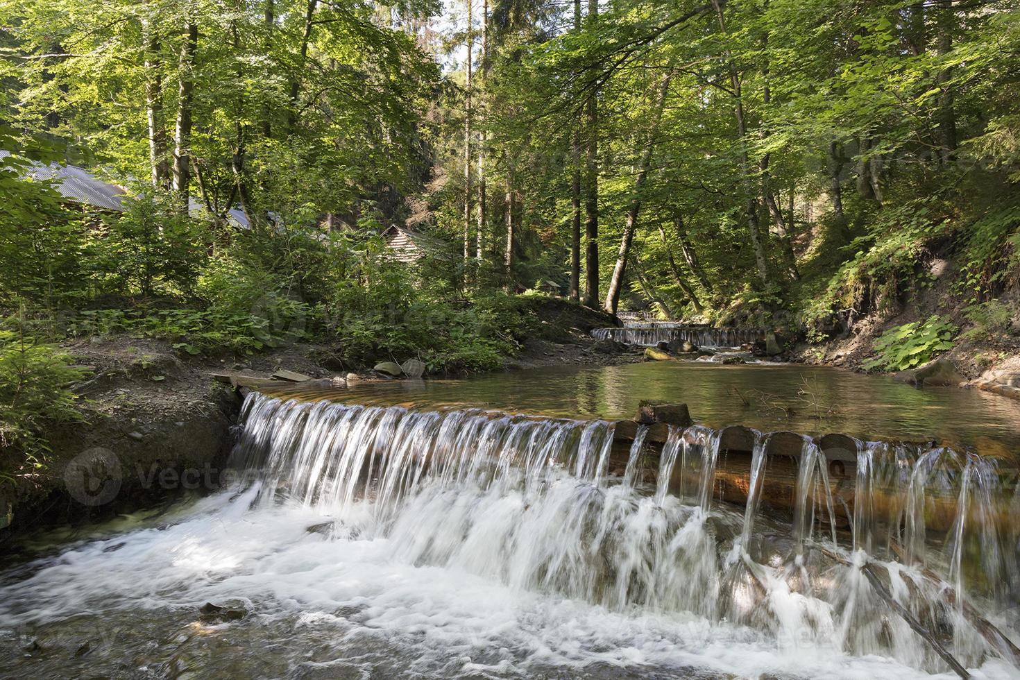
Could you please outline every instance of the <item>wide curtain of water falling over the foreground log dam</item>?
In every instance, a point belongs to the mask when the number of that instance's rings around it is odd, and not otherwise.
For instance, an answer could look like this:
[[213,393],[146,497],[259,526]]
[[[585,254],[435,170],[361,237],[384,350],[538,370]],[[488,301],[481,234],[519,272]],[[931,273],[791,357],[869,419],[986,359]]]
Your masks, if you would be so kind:
[[[738,508],[715,498],[727,454],[701,426],[671,427],[659,452],[642,426],[621,456],[602,420],[260,395],[244,413],[235,456],[256,471],[256,504],[318,508],[334,540],[386,537],[408,564],[624,615],[696,615],[783,649],[929,673],[1018,662],[1016,506],[991,460],[861,442],[840,521],[810,438],[783,515],[760,512],[767,434]],[[952,517],[933,520],[947,502]]]

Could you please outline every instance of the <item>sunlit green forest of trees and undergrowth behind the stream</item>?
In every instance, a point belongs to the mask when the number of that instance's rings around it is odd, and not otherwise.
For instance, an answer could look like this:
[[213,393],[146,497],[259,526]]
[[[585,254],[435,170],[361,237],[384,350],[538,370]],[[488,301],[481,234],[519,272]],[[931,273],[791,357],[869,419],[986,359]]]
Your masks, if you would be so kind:
[[[1016,332],[1015,0],[2,0],[0,18],[14,467],[79,417],[63,346],[92,336],[475,372],[549,296],[809,345],[900,315],[924,331],[886,338],[908,356]],[[123,209],[33,176],[52,163]],[[394,226],[429,248],[395,260]]]

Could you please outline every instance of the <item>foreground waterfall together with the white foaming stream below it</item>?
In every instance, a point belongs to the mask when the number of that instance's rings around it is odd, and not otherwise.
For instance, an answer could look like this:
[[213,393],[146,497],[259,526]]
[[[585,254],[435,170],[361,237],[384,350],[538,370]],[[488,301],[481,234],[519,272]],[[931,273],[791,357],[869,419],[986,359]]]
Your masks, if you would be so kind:
[[[942,649],[1020,677],[1003,459],[860,440],[835,483],[810,437],[621,441],[423,389],[250,395],[230,488],[0,572],[0,675],[955,677]],[[743,505],[719,499],[733,469]]]

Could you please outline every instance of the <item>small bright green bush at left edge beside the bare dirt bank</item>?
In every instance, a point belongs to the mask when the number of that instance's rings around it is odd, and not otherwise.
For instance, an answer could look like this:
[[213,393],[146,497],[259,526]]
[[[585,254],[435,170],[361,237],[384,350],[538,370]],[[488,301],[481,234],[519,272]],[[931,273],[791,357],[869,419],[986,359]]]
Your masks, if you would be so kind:
[[0,483],[45,474],[47,430],[82,419],[69,385],[86,371],[68,355],[30,334],[23,317],[0,324]]

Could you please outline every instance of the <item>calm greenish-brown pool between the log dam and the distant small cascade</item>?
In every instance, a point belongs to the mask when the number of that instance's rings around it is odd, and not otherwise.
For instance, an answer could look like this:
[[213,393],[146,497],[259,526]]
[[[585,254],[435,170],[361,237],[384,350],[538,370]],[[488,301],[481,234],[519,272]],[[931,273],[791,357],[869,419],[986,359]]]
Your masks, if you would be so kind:
[[648,362],[562,366],[464,380],[395,380],[273,394],[366,405],[481,407],[557,416],[628,418],[643,399],[685,402],[696,421],[862,438],[935,438],[1020,451],[1020,402],[977,389],[916,388],[888,376],[795,364]]

